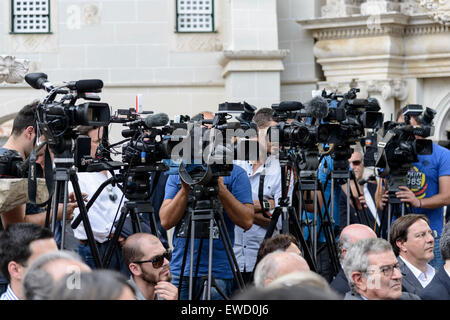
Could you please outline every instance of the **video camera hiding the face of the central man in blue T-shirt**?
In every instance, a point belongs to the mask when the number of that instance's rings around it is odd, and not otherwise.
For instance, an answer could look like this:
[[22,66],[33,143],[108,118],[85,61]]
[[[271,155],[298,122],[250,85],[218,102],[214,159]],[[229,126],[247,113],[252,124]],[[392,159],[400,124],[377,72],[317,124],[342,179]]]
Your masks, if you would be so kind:
[[[190,119],[171,124],[169,150],[179,163],[181,179],[189,185],[210,183],[213,178],[229,176],[233,160],[258,157],[257,127],[252,121],[256,107],[243,102],[219,104],[213,119]],[[236,121],[229,121],[239,113]]]

